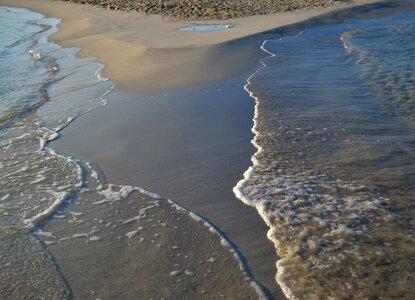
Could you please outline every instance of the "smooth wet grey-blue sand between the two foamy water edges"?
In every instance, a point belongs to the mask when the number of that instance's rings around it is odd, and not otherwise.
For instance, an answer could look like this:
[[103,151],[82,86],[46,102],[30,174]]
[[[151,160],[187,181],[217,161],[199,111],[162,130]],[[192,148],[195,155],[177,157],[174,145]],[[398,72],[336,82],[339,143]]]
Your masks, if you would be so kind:
[[[93,160],[111,183],[145,187],[208,218],[280,297],[267,227],[232,192],[254,153],[248,75],[193,89],[114,92],[108,109],[78,119],[54,147]],[[106,121],[114,115],[122,118]]]

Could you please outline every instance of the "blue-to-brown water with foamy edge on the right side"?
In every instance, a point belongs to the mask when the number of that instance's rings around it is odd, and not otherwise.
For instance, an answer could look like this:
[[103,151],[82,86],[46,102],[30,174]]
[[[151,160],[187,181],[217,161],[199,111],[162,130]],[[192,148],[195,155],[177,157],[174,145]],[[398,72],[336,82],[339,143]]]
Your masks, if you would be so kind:
[[415,11],[267,40],[246,90],[257,208],[290,299],[415,298]]

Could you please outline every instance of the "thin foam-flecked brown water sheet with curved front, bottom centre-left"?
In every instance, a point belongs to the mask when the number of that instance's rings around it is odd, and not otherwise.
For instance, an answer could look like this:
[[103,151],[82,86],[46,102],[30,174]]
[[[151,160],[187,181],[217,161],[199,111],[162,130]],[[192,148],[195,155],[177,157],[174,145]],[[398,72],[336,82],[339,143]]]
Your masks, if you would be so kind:
[[84,192],[40,232],[74,299],[258,299],[221,238],[166,199]]

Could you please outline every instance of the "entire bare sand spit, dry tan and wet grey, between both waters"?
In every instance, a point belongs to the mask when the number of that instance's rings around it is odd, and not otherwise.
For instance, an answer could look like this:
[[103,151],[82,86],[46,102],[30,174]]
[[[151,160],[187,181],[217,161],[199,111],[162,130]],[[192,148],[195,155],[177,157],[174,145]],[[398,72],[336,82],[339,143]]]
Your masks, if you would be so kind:
[[[372,2],[378,1],[355,4]],[[227,21],[232,29],[201,33],[177,28],[211,22],[174,21],[49,0],[0,0],[0,4],[62,18],[60,31],[51,39],[65,47],[81,47],[80,56],[97,57],[105,65],[104,75],[118,85],[107,108],[79,118],[62,132],[55,147],[98,163],[109,182],[144,186],[206,216],[235,243],[272,297],[282,297],[275,283],[277,257],[266,238],[267,228],[257,212],[231,192],[254,152],[249,143],[254,103],[242,90],[243,80],[264,55],[258,49],[263,40],[350,16],[367,17],[373,7],[232,19]],[[384,9],[375,7],[375,14]],[[299,23],[304,20],[309,21]],[[290,26],[282,28],[285,25]],[[218,102],[209,101],[209,93]],[[167,103],[169,99],[184,103],[178,109],[178,102]],[[134,113],[138,111],[140,116]],[[131,255],[126,256],[130,264]],[[69,267],[72,261],[67,262]],[[132,269],[140,265],[136,263]],[[76,278],[80,270],[67,272]],[[147,283],[150,289],[151,280]],[[78,284],[85,289],[82,282]]]

